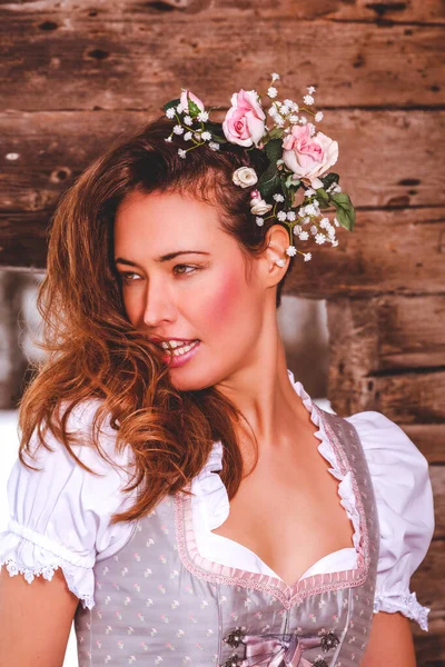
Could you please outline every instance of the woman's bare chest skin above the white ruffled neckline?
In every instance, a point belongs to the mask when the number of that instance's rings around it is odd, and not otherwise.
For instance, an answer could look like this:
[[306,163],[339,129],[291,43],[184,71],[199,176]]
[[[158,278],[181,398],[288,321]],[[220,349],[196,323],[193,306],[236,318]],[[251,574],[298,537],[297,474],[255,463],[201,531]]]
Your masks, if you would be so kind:
[[[247,547],[291,586],[315,563],[353,547],[354,526],[340,505],[338,480],[314,448],[306,456],[259,458],[211,532]],[[310,445],[310,447],[309,447]]]

